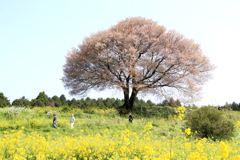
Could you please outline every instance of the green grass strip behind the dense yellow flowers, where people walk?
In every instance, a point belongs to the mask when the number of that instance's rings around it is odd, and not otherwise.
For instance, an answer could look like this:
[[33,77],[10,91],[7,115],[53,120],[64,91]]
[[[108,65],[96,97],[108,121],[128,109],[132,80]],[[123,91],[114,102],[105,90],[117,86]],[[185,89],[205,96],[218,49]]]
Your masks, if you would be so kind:
[[[86,109],[71,108],[69,110],[67,110],[66,107],[33,109],[3,108],[0,109],[0,131],[19,130],[24,127],[26,134],[38,132],[42,135],[56,133],[66,136],[94,135],[104,133],[105,130],[118,132],[125,129],[137,133],[144,129],[147,122],[152,122],[152,133],[155,136],[182,134],[181,130],[184,127],[184,121],[177,121],[173,118],[172,113],[174,109],[167,108],[167,111],[163,111],[163,109],[163,107],[145,108],[142,114],[140,111],[137,111],[133,114],[133,123],[129,123],[128,115],[120,116],[117,110],[114,109],[103,110],[94,107]],[[156,113],[161,111],[163,111],[164,114],[162,113],[157,116]],[[166,116],[167,112],[169,112],[169,116]],[[235,122],[240,121],[239,112],[223,112],[225,116],[228,116]],[[53,113],[57,114],[59,121],[57,125],[59,129],[51,127]],[[74,114],[76,118],[74,129],[70,129],[69,120],[71,114]],[[0,132],[0,134],[2,134],[2,132]],[[239,137],[237,133],[236,137]]]

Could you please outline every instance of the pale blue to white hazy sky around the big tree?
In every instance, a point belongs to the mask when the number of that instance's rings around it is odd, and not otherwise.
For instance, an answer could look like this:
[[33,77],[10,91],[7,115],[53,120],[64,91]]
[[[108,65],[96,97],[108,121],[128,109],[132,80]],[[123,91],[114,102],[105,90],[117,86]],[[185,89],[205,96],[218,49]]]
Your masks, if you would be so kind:
[[[67,52],[84,37],[134,16],[193,39],[217,67],[195,104],[240,103],[239,0],[0,0],[0,92],[11,102],[42,91],[78,98],[60,80]],[[115,91],[88,97],[123,98]]]

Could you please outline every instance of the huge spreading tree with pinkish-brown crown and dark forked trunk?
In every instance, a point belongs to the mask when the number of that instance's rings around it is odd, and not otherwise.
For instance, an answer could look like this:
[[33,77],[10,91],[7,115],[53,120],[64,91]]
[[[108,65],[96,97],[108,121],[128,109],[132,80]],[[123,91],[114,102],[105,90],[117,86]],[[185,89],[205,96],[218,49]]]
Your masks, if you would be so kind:
[[69,52],[62,81],[72,95],[121,89],[123,107],[132,110],[139,92],[193,100],[213,68],[193,40],[133,17],[85,38]]

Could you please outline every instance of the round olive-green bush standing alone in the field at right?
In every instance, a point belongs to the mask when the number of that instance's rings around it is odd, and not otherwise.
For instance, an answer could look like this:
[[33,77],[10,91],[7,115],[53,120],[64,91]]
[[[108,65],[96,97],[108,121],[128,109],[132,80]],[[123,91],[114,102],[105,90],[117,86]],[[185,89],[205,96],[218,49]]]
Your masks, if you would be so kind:
[[185,126],[196,138],[231,139],[234,123],[214,107],[202,107],[185,116]]

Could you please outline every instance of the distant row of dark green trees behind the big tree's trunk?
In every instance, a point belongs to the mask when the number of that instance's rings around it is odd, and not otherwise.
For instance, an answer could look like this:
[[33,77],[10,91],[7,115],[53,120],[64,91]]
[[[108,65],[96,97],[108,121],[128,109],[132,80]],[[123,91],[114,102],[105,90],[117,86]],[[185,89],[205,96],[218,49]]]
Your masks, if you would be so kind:
[[[31,101],[28,100],[25,96],[15,99],[12,103],[7,99],[7,97],[4,96],[3,93],[0,93],[0,107],[6,107],[6,106],[29,106],[29,107],[44,107],[44,106],[51,106],[51,107],[60,107],[60,106],[76,106],[79,108],[84,108],[84,107],[101,107],[101,108],[117,108],[120,107],[124,104],[124,100],[122,99],[115,99],[115,98],[98,98],[96,99],[91,99],[91,98],[86,98],[86,99],[71,99],[67,100],[65,95],[62,94],[60,97],[58,96],[53,96],[53,97],[48,97],[45,92],[40,92],[39,95],[35,98],[32,99]],[[154,105],[161,105],[161,106],[180,106],[181,102],[179,100],[174,100],[173,98],[170,98],[169,100],[164,100],[162,103],[155,104],[151,100],[144,101],[142,99],[136,98],[135,100],[135,105],[138,107],[141,106],[154,106]]]

